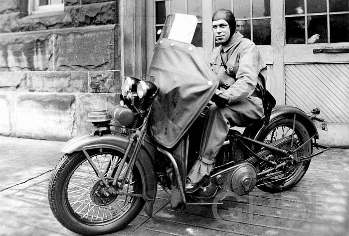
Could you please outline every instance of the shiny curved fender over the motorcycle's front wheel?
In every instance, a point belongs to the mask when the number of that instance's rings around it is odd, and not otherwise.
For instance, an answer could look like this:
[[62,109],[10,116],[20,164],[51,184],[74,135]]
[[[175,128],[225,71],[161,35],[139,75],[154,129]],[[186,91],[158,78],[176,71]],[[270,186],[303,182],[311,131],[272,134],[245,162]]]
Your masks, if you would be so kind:
[[[111,148],[122,153],[125,153],[129,143],[129,138],[122,134],[103,134],[103,136],[89,136],[80,134],[70,139],[62,148],[65,153],[72,153],[95,148]],[[157,181],[155,177],[154,161],[152,158],[152,146],[147,142],[147,145],[142,145],[136,159],[136,166],[140,171],[143,185],[143,198],[147,201],[145,210],[148,215],[152,215],[153,203],[157,195]]]

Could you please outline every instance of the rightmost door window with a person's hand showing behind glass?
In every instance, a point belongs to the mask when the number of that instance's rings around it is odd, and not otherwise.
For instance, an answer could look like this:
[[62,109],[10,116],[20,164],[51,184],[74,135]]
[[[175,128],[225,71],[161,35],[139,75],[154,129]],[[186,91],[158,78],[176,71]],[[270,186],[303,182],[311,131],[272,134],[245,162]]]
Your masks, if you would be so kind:
[[285,13],[286,44],[349,41],[348,0],[285,0]]

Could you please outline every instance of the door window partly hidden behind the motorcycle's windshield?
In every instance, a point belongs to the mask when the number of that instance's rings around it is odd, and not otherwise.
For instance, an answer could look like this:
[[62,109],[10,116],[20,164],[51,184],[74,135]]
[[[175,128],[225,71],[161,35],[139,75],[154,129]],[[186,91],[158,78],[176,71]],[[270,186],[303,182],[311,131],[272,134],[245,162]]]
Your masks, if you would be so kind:
[[[168,3],[169,2],[169,3]],[[184,13],[197,17],[197,26],[191,43],[202,47],[202,0],[155,0],[155,38],[158,41],[166,14]]]

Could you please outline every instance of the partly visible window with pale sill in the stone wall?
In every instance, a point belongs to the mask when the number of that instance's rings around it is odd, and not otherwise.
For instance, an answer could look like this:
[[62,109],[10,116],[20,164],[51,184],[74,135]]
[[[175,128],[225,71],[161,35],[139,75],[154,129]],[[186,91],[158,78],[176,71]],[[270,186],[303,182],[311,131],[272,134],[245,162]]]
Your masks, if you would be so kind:
[[28,0],[28,14],[64,10],[64,0]]

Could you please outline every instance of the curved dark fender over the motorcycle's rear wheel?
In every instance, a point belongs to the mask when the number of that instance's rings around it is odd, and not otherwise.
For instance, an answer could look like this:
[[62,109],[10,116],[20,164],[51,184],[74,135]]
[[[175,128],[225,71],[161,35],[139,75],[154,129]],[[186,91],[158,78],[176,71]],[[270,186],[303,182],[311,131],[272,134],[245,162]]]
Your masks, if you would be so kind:
[[[309,136],[312,137],[313,135],[315,135],[315,138],[319,139],[319,133],[318,133],[318,130],[316,129],[315,124],[307,116],[307,114],[305,114],[299,108],[295,108],[287,105],[276,106],[271,112],[270,122],[279,117],[286,117],[286,118],[293,119],[295,114],[296,114],[296,119],[300,121],[308,130]],[[243,135],[251,138],[256,138],[259,136],[259,133],[262,131],[264,127],[265,126],[264,126],[264,117],[263,117],[258,122],[255,122],[250,126],[246,127],[243,132]]]

